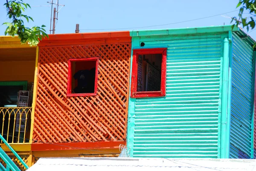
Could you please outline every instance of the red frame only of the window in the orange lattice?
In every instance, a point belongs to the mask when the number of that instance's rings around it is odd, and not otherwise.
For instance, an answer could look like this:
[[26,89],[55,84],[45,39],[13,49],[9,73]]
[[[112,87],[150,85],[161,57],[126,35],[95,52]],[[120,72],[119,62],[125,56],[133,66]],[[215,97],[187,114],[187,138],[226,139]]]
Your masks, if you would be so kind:
[[[95,83],[94,83],[94,92],[93,93],[71,93],[72,88],[72,64],[71,62],[76,61],[96,61],[95,67]],[[67,75],[67,96],[96,96],[97,95],[97,81],[98,81],[98,66],[99,58],[83,58],[83,59],[69,59],[68,60],[68,75]]]

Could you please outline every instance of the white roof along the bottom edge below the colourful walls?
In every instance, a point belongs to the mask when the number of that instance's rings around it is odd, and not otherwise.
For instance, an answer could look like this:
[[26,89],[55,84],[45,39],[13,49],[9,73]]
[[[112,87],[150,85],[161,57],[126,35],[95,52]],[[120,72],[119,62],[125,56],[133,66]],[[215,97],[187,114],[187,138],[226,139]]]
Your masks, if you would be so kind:
[[255,159],[40,158],[27,171],[256,171]]

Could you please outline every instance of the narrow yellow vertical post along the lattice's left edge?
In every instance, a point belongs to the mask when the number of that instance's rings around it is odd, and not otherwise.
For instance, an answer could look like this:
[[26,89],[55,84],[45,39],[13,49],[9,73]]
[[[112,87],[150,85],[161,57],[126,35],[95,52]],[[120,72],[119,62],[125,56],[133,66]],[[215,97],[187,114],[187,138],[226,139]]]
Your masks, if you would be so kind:
[[36,47],[36,56],[35,56],[35,76],[34,76],[34,89],[33,89],[33,101],[32,101],[32,113],[31,113],[31,127],[30,127],[29,143],[32,143],[32,139],[33,139],[35,103],[36,103],[36,95],[37,95],[38,55],[39,55],[39,47],[37,46]]

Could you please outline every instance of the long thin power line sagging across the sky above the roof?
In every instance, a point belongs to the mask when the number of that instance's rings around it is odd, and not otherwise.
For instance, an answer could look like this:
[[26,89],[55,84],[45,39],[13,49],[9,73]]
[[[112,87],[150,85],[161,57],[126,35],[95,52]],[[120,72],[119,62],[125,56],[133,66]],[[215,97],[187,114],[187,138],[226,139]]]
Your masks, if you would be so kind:
[[[235,10],[235,11],[231,11],[231,12],[236,12],[236,11],[239,11],[239,9]],[[160,25],[153,25],[153,26],[128,27],[128,28],[119,28],[119,29],[80,29],[80,30],[120,30],[120,29],[140,29],[140,28],[148,28],[148,27],[155,27],[155,26],[167,26],[167,25],[171,25],[171,24],[185,23],[185,22],[189,22],[189,21],[195,21],[195,20],[201,20],[201,19],[205,19],[205,18],[215,17],[215,16],[218,16],[218,15],[227,14],[227,13],[231,13],[231,12],[225,12],[225,13],[221,13],[221,14],[216,14],[216,15],[197,18],[197,19],[192,19],[192,20],[180,21],[180,22],[177,22],[177,23],[168,23],[168,24],[160,24]]]

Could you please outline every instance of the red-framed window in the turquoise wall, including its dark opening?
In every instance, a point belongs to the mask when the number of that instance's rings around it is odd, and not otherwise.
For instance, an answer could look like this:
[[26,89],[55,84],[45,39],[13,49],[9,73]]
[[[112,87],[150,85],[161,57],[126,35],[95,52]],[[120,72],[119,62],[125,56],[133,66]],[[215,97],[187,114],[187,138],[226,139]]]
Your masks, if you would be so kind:
[[131,97],[166,96],[166,48],[134,49]]

